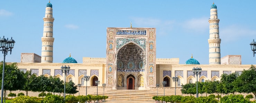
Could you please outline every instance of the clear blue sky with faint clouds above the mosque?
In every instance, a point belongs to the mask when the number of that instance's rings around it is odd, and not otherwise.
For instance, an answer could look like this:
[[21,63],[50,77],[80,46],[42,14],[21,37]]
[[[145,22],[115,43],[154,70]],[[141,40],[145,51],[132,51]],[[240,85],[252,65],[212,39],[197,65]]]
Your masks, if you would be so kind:
[[[0,36],[16,41],[6,62],[20,62],[21,53],[41,55],[43,18],[48,0],[4,0],[0,7]],[[156,58],[193,58],[209,64],[210,7],[213,0],[51,0],[53,62],[71,53],[106,57],[107,27],[155,27]],[[218,9],[221,57],[241,55],[242,64],[256,64],[250,42],[256,39],[256,0],[214,0]],[[3,56],[0,56],[3,60]]]

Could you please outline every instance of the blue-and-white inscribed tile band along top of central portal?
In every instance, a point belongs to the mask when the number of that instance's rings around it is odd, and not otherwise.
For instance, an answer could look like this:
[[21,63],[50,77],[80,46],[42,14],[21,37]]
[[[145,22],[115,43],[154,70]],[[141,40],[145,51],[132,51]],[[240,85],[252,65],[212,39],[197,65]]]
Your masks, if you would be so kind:
[[117,30],[117,35],[146,35],[146,30]]

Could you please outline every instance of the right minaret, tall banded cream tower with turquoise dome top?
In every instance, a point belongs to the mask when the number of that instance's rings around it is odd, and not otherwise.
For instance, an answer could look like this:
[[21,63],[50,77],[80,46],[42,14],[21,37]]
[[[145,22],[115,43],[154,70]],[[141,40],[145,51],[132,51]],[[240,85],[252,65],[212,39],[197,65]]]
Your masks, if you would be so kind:
[[217,14],[217,6],[213,3],[211,6],[210,38],[209,43],[209,64],[220,64],[220,36],[219,36],[219,19]]

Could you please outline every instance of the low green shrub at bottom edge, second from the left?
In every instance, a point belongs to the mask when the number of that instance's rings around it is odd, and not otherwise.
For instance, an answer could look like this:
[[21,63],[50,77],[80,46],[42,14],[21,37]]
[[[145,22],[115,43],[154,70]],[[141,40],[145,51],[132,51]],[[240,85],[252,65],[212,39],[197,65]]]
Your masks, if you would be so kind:
[[64,97],[60,95],[46,95],[44,103],[65,103]]

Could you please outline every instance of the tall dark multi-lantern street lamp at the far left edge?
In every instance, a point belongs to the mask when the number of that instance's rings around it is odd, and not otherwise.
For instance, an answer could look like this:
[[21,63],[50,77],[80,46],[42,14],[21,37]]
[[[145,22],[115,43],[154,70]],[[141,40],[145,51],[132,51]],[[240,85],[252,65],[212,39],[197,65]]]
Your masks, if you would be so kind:
[[[8,38],[1,38],[0,39],[0,51],[2,51],[3,54],[3,73],[2,73],[2,88],[1,88],[1,103],[3,103],[3,86],[4,86],[4,66],[5,66],[5,56],[8,54],[8,51],[10,51],[11,55],[11,49],[13,48],[15,44],[15,41],[11,39],[8,41]],[[9,49],[9,50],[8,50]]]

